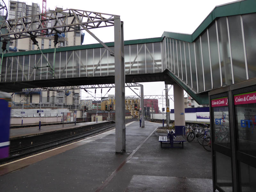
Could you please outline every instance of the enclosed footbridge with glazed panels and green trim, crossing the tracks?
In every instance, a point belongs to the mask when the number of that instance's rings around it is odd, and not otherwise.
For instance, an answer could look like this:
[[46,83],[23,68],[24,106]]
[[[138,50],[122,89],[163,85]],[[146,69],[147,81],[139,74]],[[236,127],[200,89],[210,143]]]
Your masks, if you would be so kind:
[[[256,76],[253,1],[216,7],[192,35],[164,32],[161,37],[124,41],[125,82],[179,84],[198,103],[208,91]],[[252,41],[251,41],[252,40]],[[114,43],[106,43],[114,51]],[[101,44],[4,54],[0,90],[114,83],[115,58]],[[47,60],[46,60],[47,58]]]

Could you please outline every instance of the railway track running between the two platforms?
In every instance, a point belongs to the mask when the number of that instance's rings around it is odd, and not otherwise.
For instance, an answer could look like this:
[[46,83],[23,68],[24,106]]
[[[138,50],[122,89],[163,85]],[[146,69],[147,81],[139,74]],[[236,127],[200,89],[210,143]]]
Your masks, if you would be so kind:
[[[136,121],[136,120],[137,119],[127,120],[127,121],[125,121],[125,124],[130,123],[132,121]],[[15,161],[15,160],[18,160],[25,156],[29,156],[31,154],[40,153],[45,150],[57,148],[59,146],[62,146],[62,145],[68,144],[68,143],[79,141],[86,137],[89,137],[94,134],[108,130],[109,128],[112,128],[114,126],[115,126],[115,124],[111,124],[111,125],[96,128],[96,129],[93,129],[90,131],[86,131],[86,132],[82,132],[82,133],[78,133],[78,134],[74,134],[74,135],[70,135],[70,136],[66,136],[66,137],[62,137],[62,138],[58,138],[58,139],[54,139],[54,140],[50,140],[50,141],[45,141],[45,142],[38,143],[38,144],[35,144],[32,146],[15,148],[15,149],[10,150],[10,152],[9,152],[10,156],[8,158],[1,160],[0,163],[4,164],[6,162]]]

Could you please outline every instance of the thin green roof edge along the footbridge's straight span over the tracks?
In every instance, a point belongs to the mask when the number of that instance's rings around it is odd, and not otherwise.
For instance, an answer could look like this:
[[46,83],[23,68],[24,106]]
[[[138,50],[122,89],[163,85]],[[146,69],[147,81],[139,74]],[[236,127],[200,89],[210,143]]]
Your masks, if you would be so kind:
[[[135,39],[135,40],[127,40],[124,41],[124,45],[129,44],[142,44],[142,43],[155,43],[155,42],[161,42],[161,37],[155,37],[155,38],[148,38],[148,39]],[[108,42],[105,43],[108,47],[114,46],[114,42]],[[87,45],[76,45],[76,46],[69,46],[69,47],[59,47],[56,48],[56,52],[62,52],[62,51],[74,51],[74,50],[81,50],[81,49],[92,49],[92,48],[100,48],[103,47],[102,44],[87,44]],[[42,49],[43,53],[53,53],[54,48],[52,49]],[[41,52],[39,50],[31,50],[31,51],[22,51],[22,52],[11,52],[11,53],[5,53],[4,57],[12,57],[12,56],[20,56],[20,55],[31,55],[31,54],[40,54]]]

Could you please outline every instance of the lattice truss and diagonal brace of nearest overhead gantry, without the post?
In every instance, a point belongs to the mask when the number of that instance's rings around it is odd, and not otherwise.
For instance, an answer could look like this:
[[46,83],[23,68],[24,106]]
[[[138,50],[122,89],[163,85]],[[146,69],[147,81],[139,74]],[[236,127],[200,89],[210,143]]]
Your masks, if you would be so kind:
[[3,20],[0,21],[0,41],[86,30],[114,55],[113,50],[108,48],[89,29],[114,26],[115,16],[119,17],[106,13],[67,9]]

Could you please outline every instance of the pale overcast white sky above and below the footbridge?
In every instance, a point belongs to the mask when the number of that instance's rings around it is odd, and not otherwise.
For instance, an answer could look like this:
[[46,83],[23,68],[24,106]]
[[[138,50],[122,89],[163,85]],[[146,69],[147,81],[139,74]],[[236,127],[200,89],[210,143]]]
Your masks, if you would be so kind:
[[[8,1],[4,0],[8,6]],[[23,2],[23,1],[21,1]],[[42,0],[27,0],[27,4],[38,3],[42,10]],[[230,0],[47,0],[46,9],[54,10],[55,7],[63,9],[79,9],[85,11],[94,11],[120,15],[124,21],[124,40],[144,39],[152,37],[161,37],[164,31],[192,34],[196,28],[203,22],[215,6],[232,2]],[[94,33],[103,42],[114,41],[114,27],[92,29]],[[94,38],[85,32],[84,44],[98,43]],[[136,82],[140,83],[140,82]],[[144,85],[144,95],[162,95],[165,88],[164,82],[142,83]],[[168,85],[170,87],[171,85]],[[134,89],[134,88],[132,88]],[[89,89],[94,95],[94,89]],[[102,90],[102,96],[108,91]],[[134,90],[139,93],[139,90]],[[108,94],[115,94],[112,88]],[[184,92],[185,94],[185,92]],[[100,89],[96,90],[96,97],[100,97]],[[125,95],[135,95],[129,88],[125,88]],[[169,91],[173,95],[173,90]],[[90,96],[90,95],[89,95]],[[82,99],[94,99],[88,97],[87,93],[82,93]],[[161,109],[162,100],[159,100]],[[165,105],[165,102],[164,102]],[[165,107],[165,106],[164,106]],[[170,102],[170,108],[174,108],[173,102]]]

